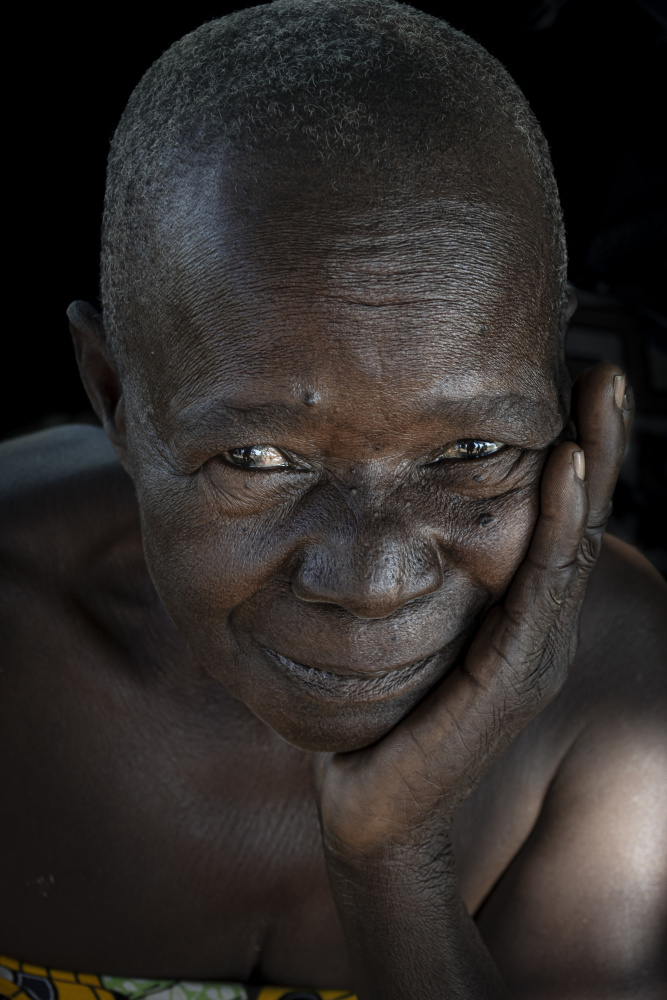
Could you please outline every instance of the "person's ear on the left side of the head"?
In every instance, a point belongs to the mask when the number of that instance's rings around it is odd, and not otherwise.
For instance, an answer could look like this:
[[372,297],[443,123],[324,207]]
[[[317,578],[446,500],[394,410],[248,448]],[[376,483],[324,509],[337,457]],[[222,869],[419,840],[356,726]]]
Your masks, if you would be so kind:
[[123,389],[107,346],[102,316],[87,302],[72,302],[67,318],[88,399],[123,462],[127,451]]

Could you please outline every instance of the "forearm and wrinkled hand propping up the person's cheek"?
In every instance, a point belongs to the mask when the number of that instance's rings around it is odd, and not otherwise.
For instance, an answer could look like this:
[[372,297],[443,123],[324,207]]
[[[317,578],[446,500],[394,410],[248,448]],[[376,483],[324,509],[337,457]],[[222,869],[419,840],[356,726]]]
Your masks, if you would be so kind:
[[456,889],[449,828],[567,678],[629,424],[616,374],[584,378],[587,484],[580,447],[556,448],[526,560],[464,664],[378,744],[320,762],[325,854],[360,1000],[511,995]]

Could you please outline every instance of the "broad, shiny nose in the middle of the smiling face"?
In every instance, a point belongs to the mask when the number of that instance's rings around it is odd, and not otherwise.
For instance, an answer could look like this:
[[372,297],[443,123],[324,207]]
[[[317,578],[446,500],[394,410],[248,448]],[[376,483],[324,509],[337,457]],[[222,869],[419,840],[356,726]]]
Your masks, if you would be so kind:
[[433,539],[412,535],[406,525],[375,520],[367,530],[310,545],[292,589],[302,601],[337,604],[357,618],[386,618],[442,582]]

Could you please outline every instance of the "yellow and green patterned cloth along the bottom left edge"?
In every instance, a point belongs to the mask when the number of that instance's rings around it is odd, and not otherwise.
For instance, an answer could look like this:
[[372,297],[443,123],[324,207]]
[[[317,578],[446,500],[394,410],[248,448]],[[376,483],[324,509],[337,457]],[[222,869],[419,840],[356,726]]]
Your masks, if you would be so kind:
[[346,990],[191,983],[180,979],[96,976],[17,962],[0,955],[0,998],[7,1000],[356,1000]]

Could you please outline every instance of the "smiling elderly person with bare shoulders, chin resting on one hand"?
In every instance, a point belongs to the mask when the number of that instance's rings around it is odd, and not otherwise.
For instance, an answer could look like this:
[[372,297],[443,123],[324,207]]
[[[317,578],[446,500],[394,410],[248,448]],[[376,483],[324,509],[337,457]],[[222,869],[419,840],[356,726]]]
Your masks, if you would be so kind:
[[0,993],[661,995],[665,587],[565,263],[441,21],[278,0],[147,72],[70,309],[105,433],[2,453]]

